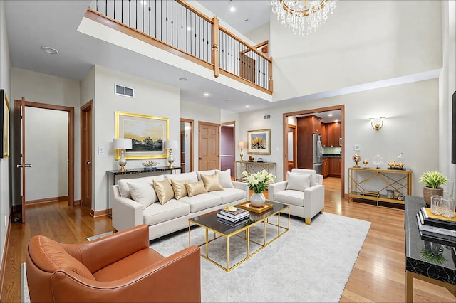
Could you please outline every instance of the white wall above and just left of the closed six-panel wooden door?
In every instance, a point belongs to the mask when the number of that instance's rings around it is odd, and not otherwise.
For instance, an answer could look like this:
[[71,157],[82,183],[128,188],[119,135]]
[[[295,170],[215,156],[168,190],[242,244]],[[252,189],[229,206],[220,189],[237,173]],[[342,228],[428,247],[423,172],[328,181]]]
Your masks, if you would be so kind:
[[220,123],[220,109],[197,103],[180,102],[180,117],[193,120],[193,170],[198,170],[198,122]]

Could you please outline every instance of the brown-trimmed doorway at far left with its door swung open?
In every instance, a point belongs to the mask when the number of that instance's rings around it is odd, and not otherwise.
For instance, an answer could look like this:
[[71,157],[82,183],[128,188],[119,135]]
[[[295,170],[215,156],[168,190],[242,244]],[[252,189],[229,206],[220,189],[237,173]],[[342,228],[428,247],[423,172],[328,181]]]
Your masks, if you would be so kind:
[[[31,111],[28,111],[28,110]],[[38,111],[38,112],[37,112]],[[27,112],[31,113],[30,122],[33,124],[28,124]],[[48,137],[51,137],[51,134],[56,132],[56,127],[62,128],[62,125],[54,125],[48,131],[41,130],[38,136],[38,141],[36,142],[37,137],[32,134],[32,137],[27,139],[26,129],[39,129],[38,124],[47,124],[50,122],[51,116],[53,113],[62,114],[66,116],[65,125],[63,127],[66,129],[66,139],[63,139],[64,148],[58,147],[56,142],[45,142]],[[35,117],[36,116],[36,117]],[[59,116],[61,119],[61,115],[55,115],[56,117]],[[21,201],[21,222],[26,222],[26,193],[27,193],[27,174],[26,168],[30,169],[30,166],[36,165],[39,167],[46,163],[44,169],[39,169],[37,174],[33,177],[33,182],[39,179],[45,179],[47,183],[53,183],[50,178],[57,178],[58,180],[66,180],[66,187],[68,190],[66,191],[65,196],[60,196],[58,191],[53,191],[52,193],[47,193],[46,196],[41,198],[35,198],[33,200],[28,199],[28,203],[45,203],[45,202],[53,202],[53,201],[61,201],[62,198],[68,199],[68,206],[74,206],[74,108],[73,107],[64,107],[59,105],[48,105],[43,103],[31,102],[26,101],[23,97],[22,100],[14,100],[14,134],[13,137],[13,144],[14,144],[14,163],[16,164],[16,169],[13,171],[13,195],[14,201]],[[55,141],[55,140],[54,140]],[[30,145],[31,143],[35,142],[38,145],[44,146],[46,148],[45,151],[38,151],[38,146]],[[64,149],[64,150],[63,150]],[[33,163],[26,163],[28,162],[28,153],[32,153],[29,156],[30,159],[36,159],[35,164]],[[38,152],[37,152],[38,151]],[[56,154],[57,156],[53,156]],[[56,164],[56,158],[63,159],[62,164]],[[47,162],[46,162],[47,161]],[[39,164],[39,165],[38,165]],[[64,167],[57,167],[57,166],[64,166]],[[53,171],[52,169],[58,169],[58,171]],[[62,173],[60,170],[65,171]],[[28,173],[28,171],[27,171]],[[33,174],[31,175],[33,176]],[[46,178],[43,178],[46,176]],[[30,182],[33,184],[33,182]],[[56,181],[58,184],[59,181]],[[41,191],[41,190],[40,190]],[[15,205],[16,206],[16,205]],[[18,210],[18,209],[15,209]],[[18,210],[19,211],[19,210]]]

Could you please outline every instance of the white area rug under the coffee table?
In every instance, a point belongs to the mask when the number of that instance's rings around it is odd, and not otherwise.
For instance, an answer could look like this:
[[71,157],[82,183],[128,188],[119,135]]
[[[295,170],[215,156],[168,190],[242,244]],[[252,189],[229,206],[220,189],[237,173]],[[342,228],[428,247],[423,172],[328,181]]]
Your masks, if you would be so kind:
[[[370,222],[331,213],[316,216],[310,226],[291,217],[288,233],[231,272],[202,258],[202,302],[338,302],[370,226]],[[204,240],[203,228],[192,229],[194,240]],[[224,252],[216,244],[209,245],[214,256]],[[187,230],[151,245],[165,256],[187,246]],[[230,258],[244,254],[235,240],[230,248]],[[21,302],[30,302],[25,272],[21,284]]]

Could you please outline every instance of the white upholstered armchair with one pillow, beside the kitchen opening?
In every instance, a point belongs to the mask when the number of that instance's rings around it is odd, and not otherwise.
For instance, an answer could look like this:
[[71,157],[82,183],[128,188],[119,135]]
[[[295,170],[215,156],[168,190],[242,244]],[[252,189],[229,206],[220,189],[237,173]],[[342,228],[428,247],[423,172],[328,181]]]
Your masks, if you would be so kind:
[[323,214],[325,187],[323,176],[313,169],[292,169],[286,181],[268,186],[269,200],[290,206],[290,214],[304,218],[307,225],[317,213]]

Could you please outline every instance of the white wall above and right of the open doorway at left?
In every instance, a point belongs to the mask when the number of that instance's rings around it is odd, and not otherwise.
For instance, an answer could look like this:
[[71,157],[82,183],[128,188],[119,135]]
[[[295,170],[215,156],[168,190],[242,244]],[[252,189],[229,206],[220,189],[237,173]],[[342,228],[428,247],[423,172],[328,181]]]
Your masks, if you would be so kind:
[[[81,180],[81,157],[79,156],[81,150],[79,136],[81,124],[79,115],[79,82],[53,75],[36,73],[30,70],[11,68],[11,88],[11,100],[21,100],[22,97],[25,97],[26,101],[30,102],[74,107],[74,198],[76,201],[79,200],[81,198],[81,182],[79,182]],[[20,134],[14,132],[14,129],[13,135],[20,136]],[[20,154],[20,151],[16,151],[18,148],[20,147],[12,146],[13,152],[11,159],[14,163],[21,162],[20,159],[16,159],[16,156]],[[44,167],[55,165],[55,161],[51,157],[44,156],[43,161],[46,162],[43,164]],[[20,205],[21,189],[18,184],[20,182],[20,178],[18,179],[18,176],[20,176],[19,171],[13,170],[13,176],[13,205]],[[41,196],[41,194],[38,196]]]

